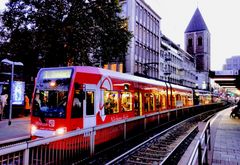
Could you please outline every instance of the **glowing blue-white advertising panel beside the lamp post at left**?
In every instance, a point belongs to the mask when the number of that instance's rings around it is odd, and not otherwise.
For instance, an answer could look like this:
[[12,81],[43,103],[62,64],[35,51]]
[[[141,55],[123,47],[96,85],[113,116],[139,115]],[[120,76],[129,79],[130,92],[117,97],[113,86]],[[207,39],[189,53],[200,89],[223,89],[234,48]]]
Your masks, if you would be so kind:
[[24,104],[24,92],[25,92],[25,82],[14,81],[13,82],[12,104],[23,105]]

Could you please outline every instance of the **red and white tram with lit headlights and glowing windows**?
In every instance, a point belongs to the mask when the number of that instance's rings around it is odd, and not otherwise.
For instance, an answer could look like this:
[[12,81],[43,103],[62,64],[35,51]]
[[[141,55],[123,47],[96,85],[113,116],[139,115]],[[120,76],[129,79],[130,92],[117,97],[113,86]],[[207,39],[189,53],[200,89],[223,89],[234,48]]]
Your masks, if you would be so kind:
[[191,88],[102,68],[42,68],[31,113],[33,137],[193,105]]

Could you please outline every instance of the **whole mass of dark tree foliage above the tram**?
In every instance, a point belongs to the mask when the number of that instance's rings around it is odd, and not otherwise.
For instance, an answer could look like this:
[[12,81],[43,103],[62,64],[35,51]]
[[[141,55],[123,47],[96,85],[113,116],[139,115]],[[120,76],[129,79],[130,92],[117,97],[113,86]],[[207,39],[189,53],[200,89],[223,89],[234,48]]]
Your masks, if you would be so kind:
[[117,0],[10,0],[1,14],[0,54],[28,71],[124,62],[132,35],[120,13]]

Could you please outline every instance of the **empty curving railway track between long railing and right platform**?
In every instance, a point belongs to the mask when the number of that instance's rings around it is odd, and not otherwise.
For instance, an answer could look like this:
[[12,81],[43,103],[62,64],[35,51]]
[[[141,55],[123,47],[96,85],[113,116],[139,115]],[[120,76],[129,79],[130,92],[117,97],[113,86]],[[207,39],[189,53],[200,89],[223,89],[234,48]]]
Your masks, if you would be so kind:
[[206,120],[212,115],[213,112],[208,112],[182,121],[149,138],[107,164],[177,164],[198,133],[198,122]]

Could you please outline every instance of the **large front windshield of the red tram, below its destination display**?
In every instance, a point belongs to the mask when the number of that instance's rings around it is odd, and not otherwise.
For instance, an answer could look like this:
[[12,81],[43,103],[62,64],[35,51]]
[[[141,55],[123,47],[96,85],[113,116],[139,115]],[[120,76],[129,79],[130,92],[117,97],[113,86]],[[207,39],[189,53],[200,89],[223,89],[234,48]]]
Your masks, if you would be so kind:
[[69,79],[44,80],[36,85],[33,116],[65,118]]

